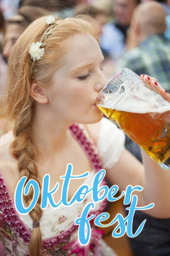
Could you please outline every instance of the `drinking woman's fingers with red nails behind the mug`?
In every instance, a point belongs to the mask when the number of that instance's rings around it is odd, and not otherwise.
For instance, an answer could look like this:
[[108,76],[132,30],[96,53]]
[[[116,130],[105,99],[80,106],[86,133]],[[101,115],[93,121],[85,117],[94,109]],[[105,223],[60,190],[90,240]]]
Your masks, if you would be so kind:
[[170,102],[170,94],[164,90],[154,77],[141,75],[141,78],[149,85],[150,88],[159,93],[164,99]]

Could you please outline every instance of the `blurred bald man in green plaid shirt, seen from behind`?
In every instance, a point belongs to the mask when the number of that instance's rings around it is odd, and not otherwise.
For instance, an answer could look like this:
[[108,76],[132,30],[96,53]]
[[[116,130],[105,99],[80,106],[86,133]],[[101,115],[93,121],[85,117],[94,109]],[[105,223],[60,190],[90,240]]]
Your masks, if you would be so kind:
[[[170,91],[170,41],[164,37],[165,17],[163,6],[156,1],[142,3],[136,8],[130,29],[135,34],[138,47],[122,56],[116,71],[128,67],[137,74],[147,73],[155,76]],[[129,151],[136,154],[139,149],[133,145]],[[169,256],[170,219],[153,218],[142,211],[136,211],[133,233],[144,220],[147,221],[142,232],[130,239],[134,256]]]

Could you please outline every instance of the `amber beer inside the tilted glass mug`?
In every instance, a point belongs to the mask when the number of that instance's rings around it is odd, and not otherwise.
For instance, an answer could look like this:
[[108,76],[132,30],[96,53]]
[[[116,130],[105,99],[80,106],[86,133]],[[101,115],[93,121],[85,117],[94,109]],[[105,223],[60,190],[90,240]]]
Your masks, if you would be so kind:
[[[108,102],[107,102],[108,103]],[[108,105],[108,104],[107,104]],[[121,128],[131,140],[159,164],[170,167],[170,107],[145,110],[136,108],[128,111],[119,108],[98,108]]]

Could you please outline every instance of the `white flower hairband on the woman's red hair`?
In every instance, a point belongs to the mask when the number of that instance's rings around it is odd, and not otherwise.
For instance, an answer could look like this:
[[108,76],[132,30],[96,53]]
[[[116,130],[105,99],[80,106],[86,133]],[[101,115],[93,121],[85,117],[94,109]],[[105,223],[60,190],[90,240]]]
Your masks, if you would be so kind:
[[46,39],[48,35],[51,35],[51,32],[49,32],[49,30],[52,29],[53,26],[57,24],[55,17],[53,17],[52,15],[48,16],[46,18],[46,21],[47,21],[47,24],[51,26],[49,26],[48,29],[44,32],[40,42],[32,43],[29,48],[29,54],[31,55],[31,59],[33,61],[39,61],[40,58],[42,58],[42,56],[44,55],[44,48],[42,47],[44,47],[46,44],[42,43],[42,41]]

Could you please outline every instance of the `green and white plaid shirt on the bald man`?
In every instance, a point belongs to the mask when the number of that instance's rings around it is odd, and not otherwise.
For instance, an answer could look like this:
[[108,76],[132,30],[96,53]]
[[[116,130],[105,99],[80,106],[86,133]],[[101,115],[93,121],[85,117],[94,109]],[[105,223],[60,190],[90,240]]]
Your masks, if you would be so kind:
[[170,93],[170,41],[164,35],[152,35],[139,47],[125,52],[116,71],[124,67],[130,68],[139,76],[147,74],[155,77],[161,87]]

